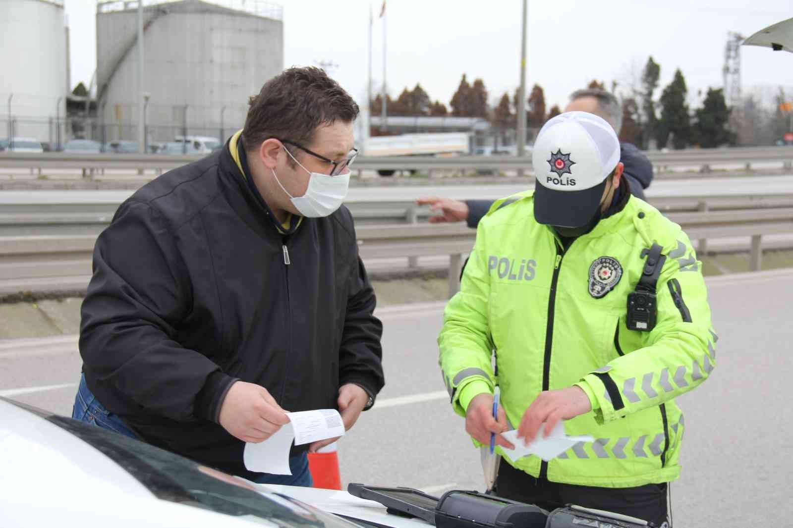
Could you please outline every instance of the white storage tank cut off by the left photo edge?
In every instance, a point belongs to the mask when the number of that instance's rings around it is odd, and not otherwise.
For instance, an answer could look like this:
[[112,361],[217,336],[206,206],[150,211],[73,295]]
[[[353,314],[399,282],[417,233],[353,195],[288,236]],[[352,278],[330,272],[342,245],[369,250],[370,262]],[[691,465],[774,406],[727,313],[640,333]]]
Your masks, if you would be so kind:
[[14,136],[52,142],[68,92],[63,1],[0,1],[0,49],[0,138],[13,128]]

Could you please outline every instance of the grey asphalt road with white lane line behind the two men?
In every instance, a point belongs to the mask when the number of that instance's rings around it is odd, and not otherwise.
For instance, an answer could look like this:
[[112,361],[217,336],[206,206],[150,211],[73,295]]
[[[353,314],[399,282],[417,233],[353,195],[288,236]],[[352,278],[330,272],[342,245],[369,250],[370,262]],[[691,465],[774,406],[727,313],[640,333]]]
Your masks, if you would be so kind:
[[[683,473],[672,485],[676,526],[790,526],[793,272],[714,277],[708,285],[717,366],[679,399],[686,436]],[[437,367],[441,310],[423,304],[381,312],[387,385],[339,442],[345,482],[436,493],[483,488],[479,454],[450,410]],[[0,348],[0,396],[68,414],[74,386],[51,387],[75,384],[79,368],[73,341]],[[33,392],[21,392],[27,389]]]

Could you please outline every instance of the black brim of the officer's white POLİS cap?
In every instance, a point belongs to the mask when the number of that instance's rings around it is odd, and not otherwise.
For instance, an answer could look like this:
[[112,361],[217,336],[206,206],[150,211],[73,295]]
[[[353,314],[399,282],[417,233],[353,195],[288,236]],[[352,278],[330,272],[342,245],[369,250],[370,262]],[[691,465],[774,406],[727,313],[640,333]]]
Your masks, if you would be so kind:
[[534,220],[539,224],[580,228],[595,216],[605,188],[606,180],[580,191],[553,190],[535,182]]

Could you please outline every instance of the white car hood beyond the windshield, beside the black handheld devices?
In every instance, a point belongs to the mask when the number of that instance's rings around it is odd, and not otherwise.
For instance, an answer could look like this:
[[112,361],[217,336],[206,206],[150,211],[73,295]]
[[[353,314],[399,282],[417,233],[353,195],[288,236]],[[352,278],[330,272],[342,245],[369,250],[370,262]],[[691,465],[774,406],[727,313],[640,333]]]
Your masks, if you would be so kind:
[[322,511],[362,521],[376,522],[393,528],[427,528],[433,526],[419,518],[400,517],[385,511],[385,506],[374,500],[360,499],[348,492],[334,489],[299,488],[275,484],[254,484],[262,492],[274,492],[300,500]]

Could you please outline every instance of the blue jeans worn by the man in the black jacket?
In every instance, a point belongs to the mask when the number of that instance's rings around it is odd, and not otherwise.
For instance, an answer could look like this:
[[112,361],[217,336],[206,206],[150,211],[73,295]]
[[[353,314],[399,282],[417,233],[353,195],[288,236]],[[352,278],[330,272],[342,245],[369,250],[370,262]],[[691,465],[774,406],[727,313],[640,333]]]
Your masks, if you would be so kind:
[[[71,417],[81,422],[102,427],[124,434],[129,438],[140,440],[138,435],[130,429],[124,421],[117,415],[108,411],[104,405],[99,403],[94,393],[86,385],[86,375],[80,376],[80,385],[75,396],[75,406],[72,407]],[[258,484],[284,484],[287,486],[304,486],[311,488],[313,480],[308,471],[308,456],[306,453],[289,457],[289,469],[291,475],[270,475],[269,473],[259,473],[255,479],[251,479]]]

